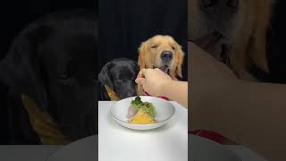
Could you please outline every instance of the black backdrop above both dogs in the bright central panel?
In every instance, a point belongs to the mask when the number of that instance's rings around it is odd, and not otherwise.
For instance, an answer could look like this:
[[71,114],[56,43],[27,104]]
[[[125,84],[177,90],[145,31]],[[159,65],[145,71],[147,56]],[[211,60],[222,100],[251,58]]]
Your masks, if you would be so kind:
[[138,60],[141,42],[157,34],[170,35],[186,53],[183,79],[187,80],[187,0],[99,0],[100,63],[116,58]]

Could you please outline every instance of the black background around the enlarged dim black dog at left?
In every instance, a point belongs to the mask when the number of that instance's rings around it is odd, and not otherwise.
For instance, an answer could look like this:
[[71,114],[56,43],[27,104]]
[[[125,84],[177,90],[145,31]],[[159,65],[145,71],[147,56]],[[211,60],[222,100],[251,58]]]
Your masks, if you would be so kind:
[[[17,36],[30,22],[36,21],[46,13],[69,10],[97,8],[97,0],[25,0],[4,1],[1,3],[0,61]],[[9,139],[7,132],[6,94],[8,88],[0,84],[0,144]]]

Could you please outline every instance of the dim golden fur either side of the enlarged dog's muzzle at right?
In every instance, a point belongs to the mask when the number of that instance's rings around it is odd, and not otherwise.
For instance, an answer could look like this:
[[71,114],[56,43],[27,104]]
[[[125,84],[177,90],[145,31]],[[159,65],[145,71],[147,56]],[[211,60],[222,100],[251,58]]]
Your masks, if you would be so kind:
[[[189,38],[197,37],[200,20],[199,0],[189,0]],[[255,64],[269,72],[266,58],[266,29],[272,14],[272,0],[240,0],[239,12],[229,22],[231,68],[241,79],[252,80],[248,67]],[[228,29],[229,30],[229,29]]]

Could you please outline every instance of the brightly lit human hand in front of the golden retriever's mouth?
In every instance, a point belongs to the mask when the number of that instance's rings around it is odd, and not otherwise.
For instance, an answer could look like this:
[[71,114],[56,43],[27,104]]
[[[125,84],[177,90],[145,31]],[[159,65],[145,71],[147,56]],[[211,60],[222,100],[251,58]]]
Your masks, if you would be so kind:
[[159,69],[142,69],[135,80],[148,94],[153,96],[164,95],[163,89],[172,78]]

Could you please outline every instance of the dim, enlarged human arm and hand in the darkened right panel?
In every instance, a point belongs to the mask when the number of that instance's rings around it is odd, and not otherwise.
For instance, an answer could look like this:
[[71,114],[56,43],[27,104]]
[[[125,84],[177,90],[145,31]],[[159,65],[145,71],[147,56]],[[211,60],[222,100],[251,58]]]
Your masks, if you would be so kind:
[[269,160],[281,160],[286,145],[286,85],[238,80],[192,43],[189,63],[189,127],[219,132]]

